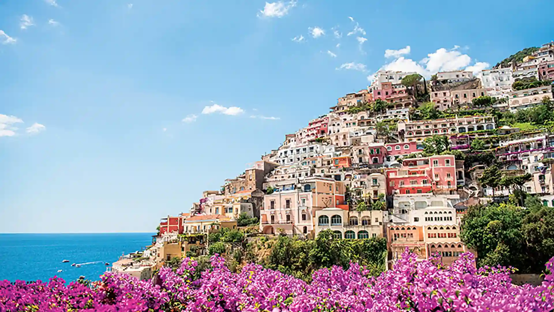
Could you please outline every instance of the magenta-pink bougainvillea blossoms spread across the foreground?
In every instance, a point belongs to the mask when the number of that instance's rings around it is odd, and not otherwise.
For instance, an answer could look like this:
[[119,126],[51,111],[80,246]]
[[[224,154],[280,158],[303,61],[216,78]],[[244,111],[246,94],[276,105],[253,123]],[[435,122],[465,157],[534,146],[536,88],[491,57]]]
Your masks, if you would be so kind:
[[[554,258],[546,264],[552,272]],[[0,311],[553,311],[554,276],[540,286],[510,283],[510,268],[476,269],[464,254],[449,268],[416,261],[404,253],[392,270],[377,277],[356,263],[314,273],[306,283],[279,271],[250,264],[232,273],[219,256],[196,272],[161,268],[158,285],[105,274],[91,285],[65,285],[53,278],[0,282]]]

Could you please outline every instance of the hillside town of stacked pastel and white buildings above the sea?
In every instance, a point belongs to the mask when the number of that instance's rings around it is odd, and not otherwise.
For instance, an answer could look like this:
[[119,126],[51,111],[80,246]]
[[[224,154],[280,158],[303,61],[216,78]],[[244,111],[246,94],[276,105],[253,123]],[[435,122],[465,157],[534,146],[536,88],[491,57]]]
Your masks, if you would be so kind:
[[554,127],[530,113],[554,107],[554,42],[526,51],[481,72],[377,72],[189,212],[164,217],[152,245],[111,270],[149,279],[164,261],[205,253],[208,234],[245,227],[384,238],[389,268],[406,248],[451,264],[473,252],[460,238],[469,207],[518,192],[554,207]]

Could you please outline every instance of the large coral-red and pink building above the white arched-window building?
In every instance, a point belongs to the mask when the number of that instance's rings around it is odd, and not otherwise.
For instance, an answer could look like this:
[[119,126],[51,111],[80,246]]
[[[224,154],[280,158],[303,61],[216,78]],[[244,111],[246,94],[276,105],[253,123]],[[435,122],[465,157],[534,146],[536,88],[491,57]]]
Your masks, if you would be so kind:
[[402,161],[387,170],[387,194],[453,193],[456,190],[454,155],[434,155]]

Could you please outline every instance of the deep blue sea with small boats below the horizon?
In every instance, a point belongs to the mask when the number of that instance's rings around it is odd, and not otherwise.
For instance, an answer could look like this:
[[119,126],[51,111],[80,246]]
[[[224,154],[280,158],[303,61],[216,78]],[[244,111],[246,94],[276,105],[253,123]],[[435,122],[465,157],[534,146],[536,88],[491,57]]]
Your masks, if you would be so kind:
[[[54,275],[68,282],[80,275],[99,280],[106,262],[111,265],[124,253],[144,249],[154,234],[0,234],[0,280],[48,281]],[[64,259],[69,263],[61,263]]]

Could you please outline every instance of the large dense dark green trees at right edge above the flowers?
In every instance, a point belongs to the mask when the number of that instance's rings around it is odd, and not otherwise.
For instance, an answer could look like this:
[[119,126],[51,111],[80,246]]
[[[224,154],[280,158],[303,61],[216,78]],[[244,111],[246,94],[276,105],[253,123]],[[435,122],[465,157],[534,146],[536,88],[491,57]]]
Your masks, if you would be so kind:
[[554,255],[554,209],[526,196],[526,209],[493,204],[468,209],[461,239],[478,253],[478,265],[515,266],[541,273]]

